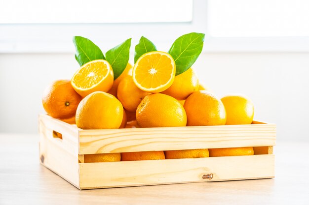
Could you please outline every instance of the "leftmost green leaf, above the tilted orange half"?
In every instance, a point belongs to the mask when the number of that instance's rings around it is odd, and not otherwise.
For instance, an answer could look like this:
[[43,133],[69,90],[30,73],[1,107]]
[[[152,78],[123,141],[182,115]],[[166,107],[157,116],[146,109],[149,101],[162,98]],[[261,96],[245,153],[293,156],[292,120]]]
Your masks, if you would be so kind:
[[104,59],[104,55],[100,48],[96,46],[91,40],[81,37],[74,36],[73,43],[75,45],[76,54],[75,59],[80,66],[83,64],[96,59]]

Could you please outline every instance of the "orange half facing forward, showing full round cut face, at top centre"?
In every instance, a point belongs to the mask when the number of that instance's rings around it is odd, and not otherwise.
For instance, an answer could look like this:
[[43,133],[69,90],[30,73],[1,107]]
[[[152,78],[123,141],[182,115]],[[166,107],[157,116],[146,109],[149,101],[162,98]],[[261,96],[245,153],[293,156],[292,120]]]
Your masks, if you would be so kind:
[[135,85],[146,92],[162,92],[174,82],[176,65],[168,53],[153,51],[142,55],[133,68]]

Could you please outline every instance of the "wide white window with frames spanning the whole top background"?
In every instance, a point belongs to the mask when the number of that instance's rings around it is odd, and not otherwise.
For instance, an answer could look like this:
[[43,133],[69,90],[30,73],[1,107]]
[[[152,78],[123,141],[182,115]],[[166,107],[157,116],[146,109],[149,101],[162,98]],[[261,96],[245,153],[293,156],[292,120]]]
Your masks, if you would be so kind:
[[108,50],[144,35],[166,51],[206,34],[204,52],[308,52],[308,0],[0,0],[0,53],[73,53],[80,35]]

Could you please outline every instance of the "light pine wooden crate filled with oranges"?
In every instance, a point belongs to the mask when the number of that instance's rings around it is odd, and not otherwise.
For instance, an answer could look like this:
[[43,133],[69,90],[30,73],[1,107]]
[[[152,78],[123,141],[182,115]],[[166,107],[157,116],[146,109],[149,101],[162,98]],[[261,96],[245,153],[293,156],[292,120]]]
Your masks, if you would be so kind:
[[[270,123],[82,130],[40,115],[39,133],[41,164],[78,189],[274,177]],[[84,154],[242,146],[255,155],[83,163]]]

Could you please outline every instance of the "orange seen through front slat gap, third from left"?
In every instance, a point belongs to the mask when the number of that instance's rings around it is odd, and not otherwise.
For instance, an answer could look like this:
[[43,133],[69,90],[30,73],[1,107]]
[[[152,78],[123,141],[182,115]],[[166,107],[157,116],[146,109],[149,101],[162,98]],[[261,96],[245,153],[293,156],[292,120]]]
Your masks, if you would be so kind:
[[208,149],[186,149],[164,151],[166,159],[209,157]]

